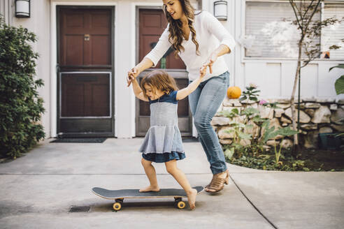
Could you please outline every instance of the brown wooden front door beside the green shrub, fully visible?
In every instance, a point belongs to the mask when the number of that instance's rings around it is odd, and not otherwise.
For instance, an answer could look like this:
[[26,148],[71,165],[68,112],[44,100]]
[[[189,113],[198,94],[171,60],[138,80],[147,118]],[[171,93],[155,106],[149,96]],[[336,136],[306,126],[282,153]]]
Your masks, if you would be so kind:
[[60,7],[58,133],[113,136],[113,9]]

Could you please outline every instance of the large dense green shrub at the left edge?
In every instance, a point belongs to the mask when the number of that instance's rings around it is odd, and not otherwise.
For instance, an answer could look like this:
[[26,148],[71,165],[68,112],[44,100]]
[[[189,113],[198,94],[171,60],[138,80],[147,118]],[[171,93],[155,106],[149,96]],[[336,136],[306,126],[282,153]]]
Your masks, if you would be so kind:
[[34,80],[38,54],[30,45],[35,41],[35,34],[0,17],[0,156],[16,158],[45,136],[37,92],[43,80]]

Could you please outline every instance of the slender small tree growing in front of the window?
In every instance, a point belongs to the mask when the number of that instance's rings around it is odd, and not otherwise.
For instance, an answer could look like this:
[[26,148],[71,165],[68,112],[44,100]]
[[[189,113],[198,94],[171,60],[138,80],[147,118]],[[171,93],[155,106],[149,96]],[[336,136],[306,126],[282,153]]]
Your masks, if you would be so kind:
[[[314,44],[314,40],[316,38],[320,38],[321,31],[324,27],[327,27],[331,24],[336,24],[341,22],[336,17],[330,17],[324,20],[313,20],[313,16],[315,13],[320,12],[320,3],[323,0],[301,0],[301,1],[294,1],[289,0],[290,5],[294,11],[294,15],[296,20],[292,22],[292,24],[296,25],[297,29],[300,31],[300,38],[298,41],[299,53],[297,59],[297,67],[296,73],[294,77],[294,86],[292,89],[292,96],[290,98],[291,109],[292,109],[292,126],[293,129],[296,130],[296,117],[295,117],[295,93],[296,93],[296,86],[299,82],[300,86],[300,73],[301,68],[307,66],[310,61],[313,61],[316,58],[320,57],[320,44]],[[336,50],[340,46],[332,45],[330,50]],[[300,90],[299,90],[300,96]],[[298,109],[299,110],[299,109]],[[299,111],[298,111],[299,112]],[[298,122],[299,123],[299,122]],[[294,135],[294,149],[299,147],[299,139],[298,135]]]

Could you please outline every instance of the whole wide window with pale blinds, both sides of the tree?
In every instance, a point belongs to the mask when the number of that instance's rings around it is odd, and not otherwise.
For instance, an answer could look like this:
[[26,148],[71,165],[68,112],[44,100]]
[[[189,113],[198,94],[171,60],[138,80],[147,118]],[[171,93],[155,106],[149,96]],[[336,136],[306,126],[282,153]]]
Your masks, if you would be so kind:
[[[343,3],[322,4],[323,18],[344,17]],[[245,57],[289,57],[298,56],[299,30],[290,24],[295,20],[294,11],[288,2],[246,1]],[[321,13],[313,20],[320,20]],[[285,19],[285,20],[283,20]],[[331,45],[341,46],[344,38],[344,22],[322,30],[322,36],[313,40],[313,45],[320,44],[322,52],[329,52]],[[331,59],[344,59],[344,49],[331,50]]]

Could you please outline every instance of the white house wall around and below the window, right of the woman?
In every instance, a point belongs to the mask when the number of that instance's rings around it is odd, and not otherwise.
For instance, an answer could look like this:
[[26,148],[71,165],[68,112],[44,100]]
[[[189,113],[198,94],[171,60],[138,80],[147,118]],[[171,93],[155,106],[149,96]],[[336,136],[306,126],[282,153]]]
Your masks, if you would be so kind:
[[[203,10],[213,13],[214,1],[203,0]],[[238,42],[245,35],[245,0],[227,2],[228,20],[222,24],[237,40],[234,54],[225,57],[231,72],[231,85],[245,89],[253,82],[259,86],[262,98],[289,98],[296,73],[296,59],[245,57],[244,47]],[[343,98],[336,96],[334,89],[334,82],[340,76],[341,70],[334,69],[329,72],[331,66],[338,64],[344,64],[344,59],[317,59],[302,68],[301,98]]]

